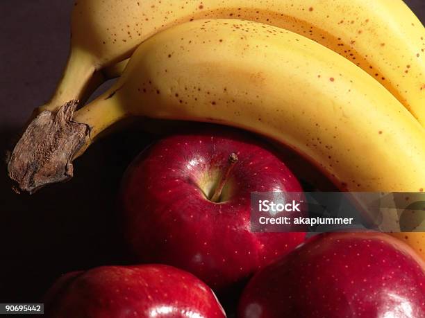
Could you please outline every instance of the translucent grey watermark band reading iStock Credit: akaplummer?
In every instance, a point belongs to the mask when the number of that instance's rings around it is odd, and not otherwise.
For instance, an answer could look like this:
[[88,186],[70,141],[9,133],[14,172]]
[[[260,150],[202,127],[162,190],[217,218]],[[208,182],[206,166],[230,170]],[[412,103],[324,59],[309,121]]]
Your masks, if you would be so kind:
[[425,193],[251,193],[251,231],[425,231]]

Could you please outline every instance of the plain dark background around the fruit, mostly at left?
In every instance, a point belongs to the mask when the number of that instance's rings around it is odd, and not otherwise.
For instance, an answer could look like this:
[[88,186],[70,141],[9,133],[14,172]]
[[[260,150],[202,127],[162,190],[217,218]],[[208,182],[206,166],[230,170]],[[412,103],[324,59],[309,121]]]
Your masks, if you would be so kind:
[[[0,0],[0,155],[63,70],[74,0]],[[406,0],[422,23],[425,1]],[[108,85],[104,85],[103,89]],[[16,195],[0,166],[0,302],[34,302],[65,272],[126,263],[115,213],[119,179],[151,136],[134,128],[95,143],[71,182]]]

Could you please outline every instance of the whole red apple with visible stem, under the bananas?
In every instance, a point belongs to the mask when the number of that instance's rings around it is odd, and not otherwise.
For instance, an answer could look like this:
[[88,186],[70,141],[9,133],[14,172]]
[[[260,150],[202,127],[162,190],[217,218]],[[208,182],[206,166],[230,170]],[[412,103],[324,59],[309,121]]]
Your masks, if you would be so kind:
[[225,128],[188,132],[140,154],[121,200],[138,261],[180,267],[222,292],[303,242],[302,232],[250,231],[251,192],[302,191],[285,164],[254,140]]

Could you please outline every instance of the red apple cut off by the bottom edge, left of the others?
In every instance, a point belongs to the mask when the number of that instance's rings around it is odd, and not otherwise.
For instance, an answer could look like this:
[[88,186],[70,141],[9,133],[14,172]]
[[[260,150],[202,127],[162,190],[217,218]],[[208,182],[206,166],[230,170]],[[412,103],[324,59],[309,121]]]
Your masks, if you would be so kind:
[[46,298],[52,318],[226,317],[205,283],[165,265],[72,272],[58,279]]

